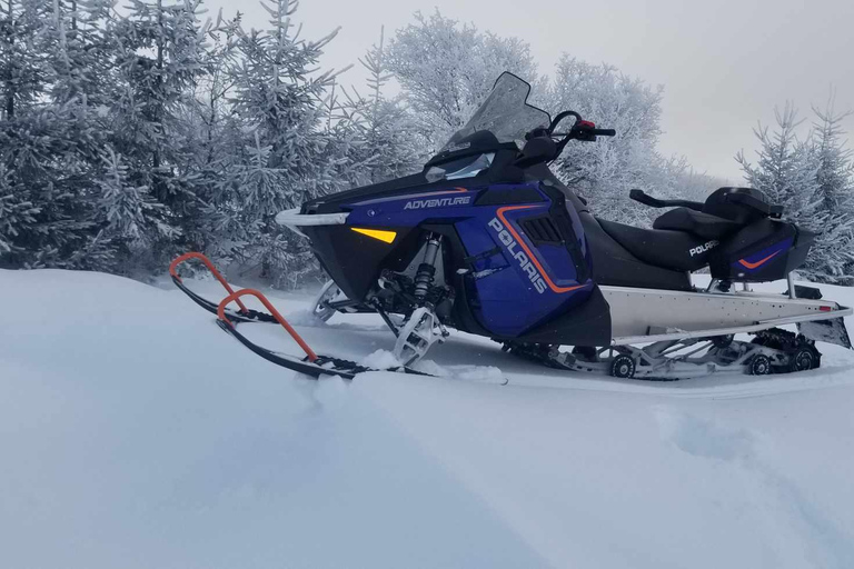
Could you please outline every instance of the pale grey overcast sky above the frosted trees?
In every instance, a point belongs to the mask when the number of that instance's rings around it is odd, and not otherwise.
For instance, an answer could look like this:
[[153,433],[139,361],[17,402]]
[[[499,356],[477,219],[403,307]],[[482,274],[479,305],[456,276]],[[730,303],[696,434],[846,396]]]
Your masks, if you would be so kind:
[[[254,0],[206,3],[224,16],[239,9],[247,28],[266,24]],[[733,156],[753,156],[752,129],[771,122],[775,106],[790,100],[808,120],[811,103],[824,106],[833,87],[836,108],[854,109],[854,0],[302,0],[296,19],[309,39],[342,27],[325,59],[342,68],[379,39],[380,26],[389,37],[416,10],[436,8],[525,39],[540,73],[567,52],[663,84],[659,149],[733,181],[741,179]],[[354,69],[342,81],[361,74]],[[854,119],[846,127],[854,130]]]

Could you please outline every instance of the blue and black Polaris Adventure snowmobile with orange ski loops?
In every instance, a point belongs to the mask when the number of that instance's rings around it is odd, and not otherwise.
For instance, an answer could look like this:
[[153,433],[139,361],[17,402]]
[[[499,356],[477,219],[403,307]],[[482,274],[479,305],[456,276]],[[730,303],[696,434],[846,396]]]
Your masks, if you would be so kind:
[[[276,217],[310,241],[331,278],[318,318],[378,313],[404,370],[450,329],[553,368],[617,378],[801,371],[820,366],[816,341],[851,348],[843,317],[852,309],[793,282],[815,234],[786,221],[782,207],[751,188],[721,188],[704,202],[632,190],[630,199],[667,209],[653,229],[596,217],[548,163],[569,142],[616,132],[572,110],[552,119],[528,104],[529,90],[504,73],[423,171]],[[711,272],[706,287],[693,282],[702,270]],[[783,293],[751,291],[782,279]],[[219,305],[195,300],[256,353],[311,375],[360,370],[307,347],[300,360],[254,345],[236,322],[289,326],[266,299],[270,315],[229,311],[242,295],[262,296],[228,292]]]

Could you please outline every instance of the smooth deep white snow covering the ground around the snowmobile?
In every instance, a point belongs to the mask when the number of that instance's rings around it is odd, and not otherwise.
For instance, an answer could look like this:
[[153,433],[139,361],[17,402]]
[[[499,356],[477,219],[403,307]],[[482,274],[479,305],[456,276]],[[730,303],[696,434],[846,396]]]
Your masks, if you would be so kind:
[[[3,568],[854,567],[841,348],[796,376],[655,383],[454,333],[431,366],[470,381],[316,382],[177,290],[52,270],[0,290]],[[371,316],[275,302],[318,351],[393,346]]]

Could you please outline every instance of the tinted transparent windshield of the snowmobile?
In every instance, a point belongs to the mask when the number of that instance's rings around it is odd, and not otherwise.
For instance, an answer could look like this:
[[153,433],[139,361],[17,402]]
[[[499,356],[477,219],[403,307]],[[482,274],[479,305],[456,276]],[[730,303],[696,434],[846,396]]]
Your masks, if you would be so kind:
[[530,84],[505,71],[495,82],[493,91],[478,107],[465,127],[450,137],[441,152],[461,150],[460,140],[478,130],[488,130],[498,142],[522,144],[525,133],[537,127],[548,127],[552,118],[543,109],[527,103]]

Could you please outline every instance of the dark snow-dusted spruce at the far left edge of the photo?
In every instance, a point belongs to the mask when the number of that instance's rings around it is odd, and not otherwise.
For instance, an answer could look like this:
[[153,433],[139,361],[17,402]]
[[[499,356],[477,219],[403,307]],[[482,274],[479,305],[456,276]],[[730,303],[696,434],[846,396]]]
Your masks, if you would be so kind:
[[[60,8],[33,0],[11,0],[3,8],[2,264],[105,268],[100,262],[110,251],[95,240],[89,163],[103,129],[91,123],[80,98],[54,98]],[[85,250],[93,252],[91,261],[80,257]]]

